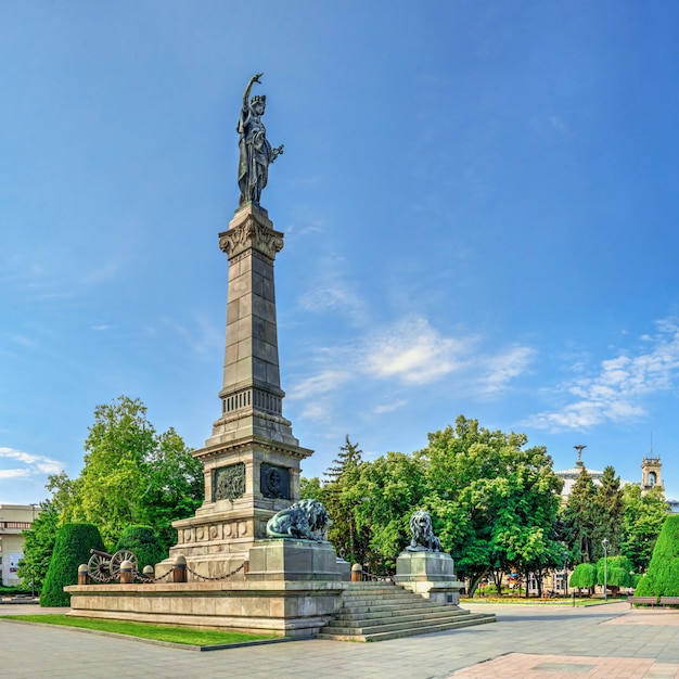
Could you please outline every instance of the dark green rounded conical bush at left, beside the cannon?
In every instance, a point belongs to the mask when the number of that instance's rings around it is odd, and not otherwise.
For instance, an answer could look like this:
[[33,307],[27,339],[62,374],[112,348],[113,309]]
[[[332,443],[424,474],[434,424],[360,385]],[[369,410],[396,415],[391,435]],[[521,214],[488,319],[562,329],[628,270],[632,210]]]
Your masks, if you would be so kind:
[[41,606],[71,605],[71,594],[64,591],[64,587],[78,584],[78,566],[89,561],[90,549],[104,549],[97,526],[64,524],[59,529],[40,592]]

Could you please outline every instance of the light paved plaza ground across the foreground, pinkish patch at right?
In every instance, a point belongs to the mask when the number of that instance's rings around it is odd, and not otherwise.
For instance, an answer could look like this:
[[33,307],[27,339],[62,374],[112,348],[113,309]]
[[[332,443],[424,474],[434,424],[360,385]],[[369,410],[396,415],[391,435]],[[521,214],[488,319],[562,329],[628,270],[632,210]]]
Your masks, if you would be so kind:
[[[0,618],[0,677],[679,679],[679,611],[467,607],[498,622],[379,643],[310,640],[207,653]],[[0,616],[33,608],[2,605]]]

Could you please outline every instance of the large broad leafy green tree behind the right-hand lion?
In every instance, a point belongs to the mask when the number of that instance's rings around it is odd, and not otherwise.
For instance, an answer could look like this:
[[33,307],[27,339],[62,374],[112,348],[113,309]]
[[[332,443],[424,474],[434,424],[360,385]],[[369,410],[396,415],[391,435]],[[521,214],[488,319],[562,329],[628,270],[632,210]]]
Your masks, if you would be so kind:
[[430,434],[417,453],[426,475],[425,507],[470,593],[492,573],[496,585],[509,568],[541,574],[561,563],[563,548],[552,526],[562,482],[543,447],[527,437],[479,426],[460,415],[454,428]]

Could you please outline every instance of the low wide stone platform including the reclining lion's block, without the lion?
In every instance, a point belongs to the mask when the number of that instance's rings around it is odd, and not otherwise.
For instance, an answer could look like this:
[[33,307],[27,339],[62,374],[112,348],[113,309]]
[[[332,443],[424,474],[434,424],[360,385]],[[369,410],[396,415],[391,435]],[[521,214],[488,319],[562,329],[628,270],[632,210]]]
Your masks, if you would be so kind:
[[[342,605],[348,567],[329,542],[261,540],[249,550],[244,580],[113,582],[65,590],[71,594],[69,615],[77,617],[308,638]],[[158,567],[156,576],[162,575]]]

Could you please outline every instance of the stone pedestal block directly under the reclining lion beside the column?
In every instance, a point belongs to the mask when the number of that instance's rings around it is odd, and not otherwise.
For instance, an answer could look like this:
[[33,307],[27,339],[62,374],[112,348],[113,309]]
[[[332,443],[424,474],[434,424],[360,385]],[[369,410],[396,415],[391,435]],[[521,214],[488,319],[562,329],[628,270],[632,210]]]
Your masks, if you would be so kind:
[[247,581],[340,581],[337,554],[330,542],[260,540],[249,550]]

